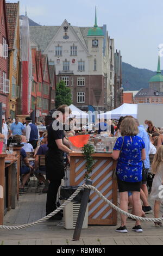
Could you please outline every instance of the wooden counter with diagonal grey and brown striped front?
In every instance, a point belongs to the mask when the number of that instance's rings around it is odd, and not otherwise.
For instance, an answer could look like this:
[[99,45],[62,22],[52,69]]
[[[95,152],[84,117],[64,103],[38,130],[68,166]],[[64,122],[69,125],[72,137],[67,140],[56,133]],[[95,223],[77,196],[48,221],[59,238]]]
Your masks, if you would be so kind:
[[[117,181],[112,179],[116,162],[111,154],[96,153],[95,168],[92,171],[91,179],[95,186],[106,198],[117,205]],[[86,160],[82,153],[71,153],[70,163],[70,186],[80,186],[85,183]],[[90,193],[89,203],[89,224],[90,225],[117,225],[117,211],[112,210],[108,204],[93,191]]]

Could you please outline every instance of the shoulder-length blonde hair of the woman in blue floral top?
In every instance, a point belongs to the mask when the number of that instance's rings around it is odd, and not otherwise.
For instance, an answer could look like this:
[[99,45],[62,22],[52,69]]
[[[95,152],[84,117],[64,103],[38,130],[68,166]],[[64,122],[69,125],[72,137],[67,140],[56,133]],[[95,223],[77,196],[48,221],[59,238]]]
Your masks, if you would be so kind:
[[121,123],[120,131],[122,136],[136,136],[139,133],[134,118],[125,118]]

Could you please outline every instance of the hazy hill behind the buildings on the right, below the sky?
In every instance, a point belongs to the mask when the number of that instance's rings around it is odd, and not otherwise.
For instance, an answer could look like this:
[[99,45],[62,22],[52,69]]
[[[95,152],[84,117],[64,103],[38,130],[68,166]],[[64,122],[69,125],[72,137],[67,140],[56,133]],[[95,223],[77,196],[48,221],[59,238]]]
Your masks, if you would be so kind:
[[139,69],[127,63],[122,63],[122,84],[124,90],[140,90],[149,88],[148,81],[156,72],[148,69]]

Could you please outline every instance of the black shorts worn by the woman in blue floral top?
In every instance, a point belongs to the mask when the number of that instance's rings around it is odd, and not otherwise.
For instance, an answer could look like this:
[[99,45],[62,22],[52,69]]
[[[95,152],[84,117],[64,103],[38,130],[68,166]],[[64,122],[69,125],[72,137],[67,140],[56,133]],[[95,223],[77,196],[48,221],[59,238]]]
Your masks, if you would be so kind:
[[140,182],[126,182],[126,181],[122,181],[117,178],[117,182],[118,182],[118,190],[120,193],[121,192],[129,192],[129,191],[140,192],[141,181]]

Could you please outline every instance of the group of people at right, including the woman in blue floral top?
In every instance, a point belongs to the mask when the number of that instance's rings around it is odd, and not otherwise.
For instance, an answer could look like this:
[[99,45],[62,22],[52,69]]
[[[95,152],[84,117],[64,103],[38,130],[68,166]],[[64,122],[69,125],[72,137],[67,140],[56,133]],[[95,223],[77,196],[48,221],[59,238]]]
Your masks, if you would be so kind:
[[[148,204],[147,179],[149,172],[153,173],[152,192],[150,197],[154,203],[154,217],[159,218],[159,207],[162,198],[159,188],[163,185],[163,139],[162,128],[156,128],[152,121],[145,121],[145,127],[133,117],[121,117],[117,125],[118,139],[112,157],[117,162],[116,175],[118,191],[120,192],[120,208],[124,211],[132,209],[132,214],[146,217],[152,213]],[[149,155],[154,155],[152,166]],[[141,203],[142,202],[142,203]],[[130,204],[130,206],[129,206]],[[116,231],[127,233],[127,217],[121,215],[121,227]],[[160,227],[161,222],[155,222]],[[133,231],[142,232],[140,221],[136,221]]]

